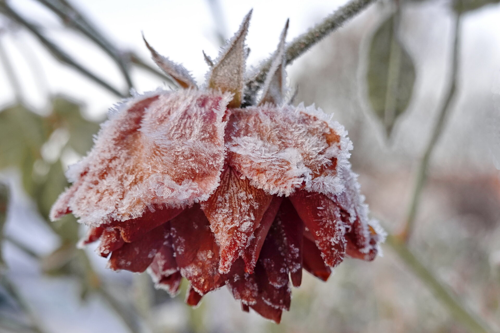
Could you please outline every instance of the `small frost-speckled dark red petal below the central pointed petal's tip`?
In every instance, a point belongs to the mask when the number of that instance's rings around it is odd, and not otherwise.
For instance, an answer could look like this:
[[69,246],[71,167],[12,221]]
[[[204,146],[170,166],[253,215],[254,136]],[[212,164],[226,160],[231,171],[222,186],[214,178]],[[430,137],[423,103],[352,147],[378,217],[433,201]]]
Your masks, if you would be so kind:
[[258,287],[254,274],[244,272],[244,262],[237,259],[231,266],[231,271],[227,278],[227,287],[235,300],[240,300],[246,305],[253,305],[257,302]]

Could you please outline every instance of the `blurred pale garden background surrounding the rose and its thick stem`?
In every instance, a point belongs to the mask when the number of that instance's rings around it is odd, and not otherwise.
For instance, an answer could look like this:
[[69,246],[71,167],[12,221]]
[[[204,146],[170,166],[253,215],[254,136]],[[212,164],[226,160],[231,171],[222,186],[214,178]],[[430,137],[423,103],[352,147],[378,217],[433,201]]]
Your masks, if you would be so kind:
[[[295,102],[348,130],[371,215],[408,237],[326,283],[304,273],[280,325],[241,312],[225,288],[191,309],[186,286],[170,298],[145,274],[107,270],[95,245],[76,249],[84,226],[47,220],[107,108],[171,85],[141,31],[201,83],[201,50],[215,57],[250,8],[257,66],[286,18],[292,40],[344,3],[0,0],[0,332],[498,332],[498,1],[378,1],[289,66]],[[487,329],[463,325],[456,307]]]

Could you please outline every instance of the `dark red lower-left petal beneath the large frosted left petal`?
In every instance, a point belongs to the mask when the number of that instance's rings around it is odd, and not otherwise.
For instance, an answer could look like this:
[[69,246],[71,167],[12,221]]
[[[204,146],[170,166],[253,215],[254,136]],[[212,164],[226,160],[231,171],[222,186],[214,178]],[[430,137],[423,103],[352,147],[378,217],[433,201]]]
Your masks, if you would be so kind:
[[159,226],[133,243],[125,243],[111,253],[108,266],[112,270],[144,272],[153,261],[158,249],[163,245],[168,231]]

